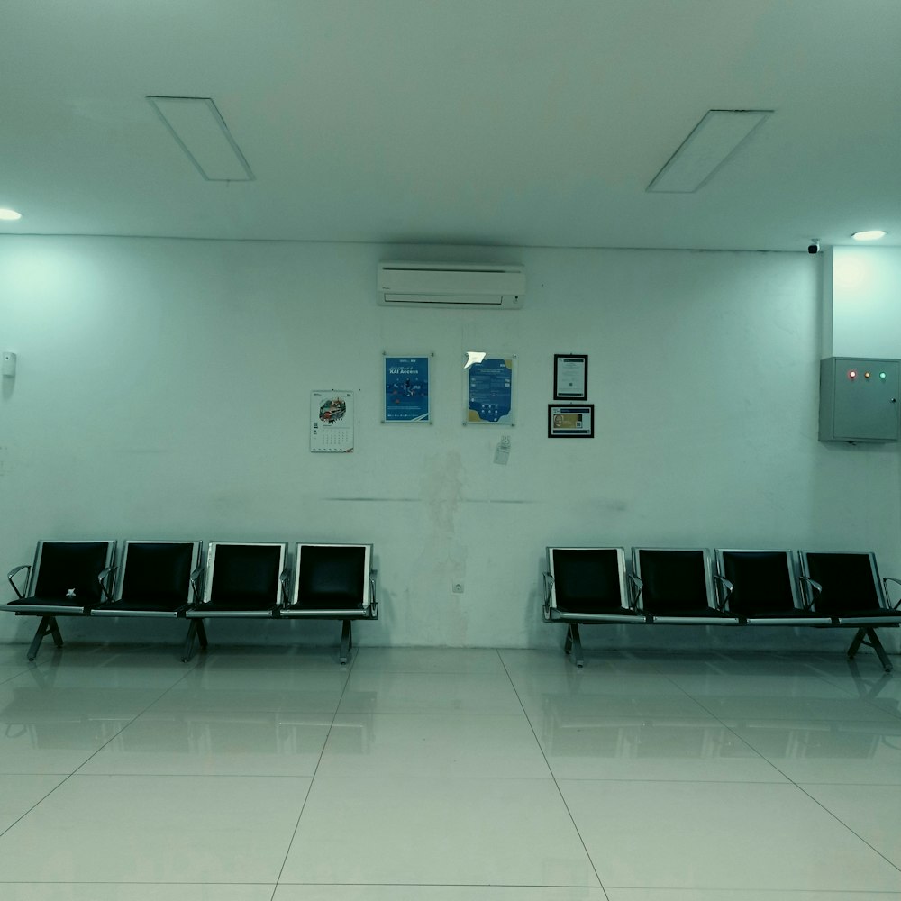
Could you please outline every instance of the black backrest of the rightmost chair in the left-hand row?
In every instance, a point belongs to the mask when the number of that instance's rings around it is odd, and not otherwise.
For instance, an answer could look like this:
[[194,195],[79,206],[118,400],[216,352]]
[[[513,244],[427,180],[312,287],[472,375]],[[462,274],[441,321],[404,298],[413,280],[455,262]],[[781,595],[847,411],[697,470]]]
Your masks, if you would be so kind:
[[364,610],[369,606],[371,544],[298,544],[292,606]]

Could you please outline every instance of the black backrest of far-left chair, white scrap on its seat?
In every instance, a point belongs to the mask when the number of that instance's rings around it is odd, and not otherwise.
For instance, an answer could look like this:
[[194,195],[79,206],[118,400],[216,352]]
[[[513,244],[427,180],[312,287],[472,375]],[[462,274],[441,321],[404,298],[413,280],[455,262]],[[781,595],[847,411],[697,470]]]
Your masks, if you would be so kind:
[[32,568],[34,597],[83,597],[98,601],[97,577],[113,565],[115,542],[38,542]]

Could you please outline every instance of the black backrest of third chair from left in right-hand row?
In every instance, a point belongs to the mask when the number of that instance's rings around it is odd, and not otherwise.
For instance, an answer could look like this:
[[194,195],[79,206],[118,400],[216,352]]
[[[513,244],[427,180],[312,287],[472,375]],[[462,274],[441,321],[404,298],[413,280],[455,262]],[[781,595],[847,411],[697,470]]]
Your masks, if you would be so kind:
[[730,612],[740,616],[800,609],[791,551],[715,551],[716,569],[729,579]]

